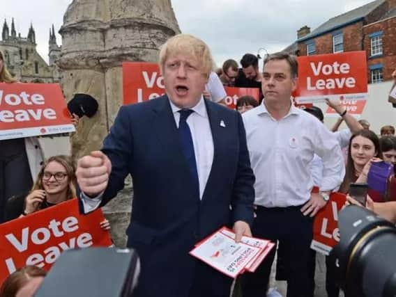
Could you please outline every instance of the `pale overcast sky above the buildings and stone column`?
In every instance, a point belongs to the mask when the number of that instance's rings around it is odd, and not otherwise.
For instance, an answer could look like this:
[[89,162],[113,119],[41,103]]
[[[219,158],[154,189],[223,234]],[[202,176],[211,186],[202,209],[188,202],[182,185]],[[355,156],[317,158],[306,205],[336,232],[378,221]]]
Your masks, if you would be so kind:
[[[48,39],[52,24],[59,31],[63,15],[73,0],[2,0],[0,30],[4,19],[26,37],[30,23],[36,31],[38,52],[48,61]],[[101,0],[98,0],[101,1]],[[144,0],[143,0],[144,1]],[[211,47],[218,66],[227,58],[241,59],[264,47],[279,51],[296,40],[302,26],[315,29],[331,17],[357,8],[370,0],[172,0],[183,33],[192,33]],[[58,45],[61,35],[56,35]],[[263,52],[264,54],[264,52]]]

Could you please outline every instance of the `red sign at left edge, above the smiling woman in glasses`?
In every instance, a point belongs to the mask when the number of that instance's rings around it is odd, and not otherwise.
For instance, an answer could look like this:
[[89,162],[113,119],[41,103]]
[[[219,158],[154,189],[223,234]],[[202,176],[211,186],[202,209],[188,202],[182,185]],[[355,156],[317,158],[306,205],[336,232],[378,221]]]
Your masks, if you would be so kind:
[[73,131],[57,83],[0,83],[0,141]]

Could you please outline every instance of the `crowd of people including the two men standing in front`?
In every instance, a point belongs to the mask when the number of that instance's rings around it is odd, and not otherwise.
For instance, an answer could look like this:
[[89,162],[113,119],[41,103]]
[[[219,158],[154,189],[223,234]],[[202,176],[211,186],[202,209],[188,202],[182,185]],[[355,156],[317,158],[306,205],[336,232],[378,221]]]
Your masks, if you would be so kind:
[[[89,213],[114,198],[131,175],[127,245],[142,264],[137,296],[229,296],[232,280],[188,254],[223,225],[237,242],[246,235],[277,243],[257,271],[238,278],[234,296],[266,296],[275,252],[287,297],[314,296],[313,218],[330,193],[348,194],[351,183],[367,183],[373,163],[396,165],[395,128],[386,125],[377,136],[339,99],[326,99],[340,115],[332,129],[323,125],[319,107],[294,106],[295,56],[271,54],[262,72],[253,54],[240,63],[227,60],[213,72],[202,40],[170,38],[159,59],[166,95],[121,106],[102,149],[77,166],[70,156],[44,160],[37,138],[0,141],[0,222],[76,197]],[[1,82],[15,83],[3,56],[0,70]],[[259,88],[259,98],[239,97],[232,111],[222,106],[223,86]],[[347,128],[338,131],[342,121]],[[28,143],[41,155],[36,164]],[[395,176],[388,177],[385,193],[368,193],[367,207],[396,222],[396,202],[390,202],[396,200]],[[109,222],[100,226],[108,230]],[[332,273],[326,275],[329,297],[340,294]],[[0,297],[22,296],[18,290],[31,279],[38,287],[44,276],[38,268],[20,268],[3,283]]]

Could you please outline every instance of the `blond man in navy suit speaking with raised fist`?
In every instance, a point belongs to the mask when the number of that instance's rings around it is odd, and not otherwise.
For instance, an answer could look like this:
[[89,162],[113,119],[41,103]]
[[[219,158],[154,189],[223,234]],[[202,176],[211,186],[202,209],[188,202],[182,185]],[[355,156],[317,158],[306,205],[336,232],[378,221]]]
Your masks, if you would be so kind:
[[188,254],[230,225],[251,235],[254,175],[241,115],[202,97],[213,60],[192,35],[160,51],[165,96],[121,106],[101,152],[78,161],[84,211],[133,179],[128,247],[139,253],[139,297],[226,297],[231,279]]

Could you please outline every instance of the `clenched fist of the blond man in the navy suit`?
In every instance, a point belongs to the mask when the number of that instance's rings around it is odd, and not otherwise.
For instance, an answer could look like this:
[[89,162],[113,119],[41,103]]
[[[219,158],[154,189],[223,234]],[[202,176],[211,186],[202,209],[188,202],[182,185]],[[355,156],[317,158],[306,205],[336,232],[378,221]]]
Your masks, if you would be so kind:
[[77,182],[81,191],[91,197],[96,197],[105,191],[109,175],[112,172],[112,162],[100,151],[91,152],[77,162]]

